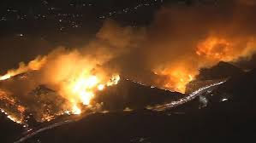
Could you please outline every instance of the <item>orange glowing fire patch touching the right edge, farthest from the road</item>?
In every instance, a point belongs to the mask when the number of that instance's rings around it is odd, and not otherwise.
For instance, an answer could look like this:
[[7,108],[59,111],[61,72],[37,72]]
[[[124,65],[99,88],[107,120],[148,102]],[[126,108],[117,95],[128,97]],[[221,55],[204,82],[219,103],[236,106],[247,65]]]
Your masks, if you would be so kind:
[[254,37],[221,37],[210,35],[198,44],[196,54],[206,61],[234,61],[250,57],[255,49]]

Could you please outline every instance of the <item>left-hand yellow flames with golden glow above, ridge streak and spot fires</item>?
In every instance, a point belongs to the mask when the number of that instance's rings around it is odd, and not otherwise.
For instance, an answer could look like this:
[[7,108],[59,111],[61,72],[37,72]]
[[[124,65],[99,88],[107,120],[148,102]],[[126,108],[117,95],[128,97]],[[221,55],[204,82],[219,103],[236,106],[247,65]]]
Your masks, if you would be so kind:
[[[24,79],[28,82],[25,86],[30,86],[31,82],[34,88],[45,84],[66,99],[67,101],[61,105],[63,112],[56,112],[56,116],[63,113],[80,114],[83,112],[83,106],[94,106],[92,99],[98,91],[116,85],[120,80],[118,74],[111,74],[98,68],[100,63],[100,60],[82,56],[76,50],[67,52],[65,49],[59,49],[44,58],[38,57],[30,61],[27,66],[23,63],[20,64],[18,69],[8,71],[0,79],[6,80],[23,72],[33,72],[36,70],[35,74],[30,75],[33,77]],[[29,82],[29,80],[32,81]],[[15,82],[15,80],[9,82]],[[4,98],[8,97],[7,92],[13,94],[12,91],[3,91]],[[16,104],[16,101],[12,100],[11,103]],[[17,110],[25,112],[25,108],[21,107],[18,106]],[[41,115],[40,120],[51,121],[51,119],[55,118],[55,115],[46,112]],[[9,115],[9,118],[21,123],[21,120],[15,116]]]

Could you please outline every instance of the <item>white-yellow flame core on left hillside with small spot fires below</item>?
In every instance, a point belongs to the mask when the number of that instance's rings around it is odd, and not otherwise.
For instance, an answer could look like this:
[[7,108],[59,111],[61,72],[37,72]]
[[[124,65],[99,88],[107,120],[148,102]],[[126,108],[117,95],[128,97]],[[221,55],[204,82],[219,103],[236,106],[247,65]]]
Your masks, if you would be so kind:
[[[106,86],[112,86],[119,82],[119,75],[113,75],[110,77],[109,81],[104,81],[100,76],[95,76],[91,74],[86,74],[86,72],[81,72],[80,76],[74,77],[72,81],[64,84],[65,94],[68,94],[67,100],[69,101],[70,108],[61,114],[74,114],[80,115],[82,113],[80,103],[85,106],[91,106],[91,100],[95,96],[95,92],[103,90]],[[3,93],[4,95],[5,93]],[[5,97],[5,96],[3,96]],[[23,106],[17,106],[17,110],[19,112],[25,112],[25,108]],[[2,110],[2,112],[4,112]],[[7,114],[7,113],[6,113]],[[56,115],[58,115],[57,113]],[[15,116],[11,116],[9,114],[8,118],[15,123],[22,123],[22,120],[19,120]],[[51,121],[55,117],[48,114],[42,115],[42,121]]]

